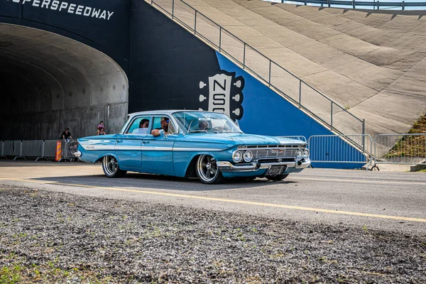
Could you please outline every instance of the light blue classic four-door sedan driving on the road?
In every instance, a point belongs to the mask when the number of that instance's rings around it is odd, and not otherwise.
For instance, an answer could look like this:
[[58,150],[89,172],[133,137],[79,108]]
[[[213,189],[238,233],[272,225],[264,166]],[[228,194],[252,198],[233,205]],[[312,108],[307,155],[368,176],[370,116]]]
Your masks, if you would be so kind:
[[119,133],[78,139],[77,157],[102,161],[109,178],[127,171],[199,178],[283,180],[310,165],[306,142],[245,134],[225,114],[142,111],[129,114]]

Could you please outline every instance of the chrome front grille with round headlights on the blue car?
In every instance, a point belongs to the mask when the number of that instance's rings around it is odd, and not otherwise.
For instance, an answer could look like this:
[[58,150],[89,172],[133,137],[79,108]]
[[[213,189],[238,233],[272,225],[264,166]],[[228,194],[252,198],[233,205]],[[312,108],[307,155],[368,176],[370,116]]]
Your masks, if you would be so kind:
[[253,160],[271,159],[271,158],[294,158],[299,149],[304,149],[305,146],[242,146],[241,151],[250,150],[253,153]]

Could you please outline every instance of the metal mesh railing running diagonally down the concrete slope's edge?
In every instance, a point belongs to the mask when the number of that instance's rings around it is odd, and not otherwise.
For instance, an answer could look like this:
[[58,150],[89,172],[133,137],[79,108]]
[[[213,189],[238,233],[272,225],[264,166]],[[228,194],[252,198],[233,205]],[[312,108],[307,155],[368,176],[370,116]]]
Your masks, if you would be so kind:
[[231,58],[244,70],[249,70],[261,82],[293,102],[316,119],[322,121],[331,131],[337,133],[365,133],[365,121],[346,111],[332,99],[314,87],[285,70],[255,48],[219,26],[204,14],[182,0],[145,0],[173,20],[192,31]]

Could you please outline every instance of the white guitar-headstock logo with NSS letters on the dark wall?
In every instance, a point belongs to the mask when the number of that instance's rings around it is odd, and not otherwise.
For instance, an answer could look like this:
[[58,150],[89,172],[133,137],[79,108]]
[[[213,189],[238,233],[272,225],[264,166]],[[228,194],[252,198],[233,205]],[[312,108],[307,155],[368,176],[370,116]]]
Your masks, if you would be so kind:
[[208,83],[200,81],[200,110],[222,112],[234,121],[240,120],[244,114],[244,78],[235,77],[235,72],[221,72],[209,77]]

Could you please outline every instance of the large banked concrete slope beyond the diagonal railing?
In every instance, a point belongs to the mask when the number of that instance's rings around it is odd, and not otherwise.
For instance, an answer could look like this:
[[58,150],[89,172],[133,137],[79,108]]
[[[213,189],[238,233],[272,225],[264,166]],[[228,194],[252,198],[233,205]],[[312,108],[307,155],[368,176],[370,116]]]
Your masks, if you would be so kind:
[[365,119],[371,136],[405,133],[426,111],[425,11],[185,2]]

